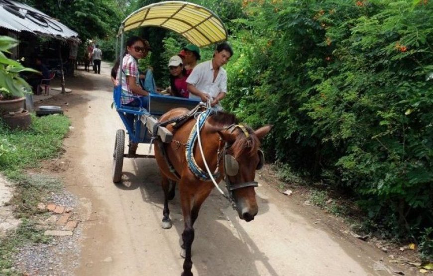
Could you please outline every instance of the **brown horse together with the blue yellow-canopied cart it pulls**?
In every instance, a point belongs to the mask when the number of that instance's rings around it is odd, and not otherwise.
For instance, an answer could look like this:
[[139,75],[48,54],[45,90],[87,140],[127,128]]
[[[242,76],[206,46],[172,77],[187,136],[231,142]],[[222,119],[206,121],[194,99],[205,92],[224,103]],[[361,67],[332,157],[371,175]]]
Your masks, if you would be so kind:
[[[172,30],[199,47],[227,38],[221,20],[207,8],[188,2],[159,2],[133,12],[122,22],[118,34],[120,56],[123,53],[124,32],[146,26]],[[218,47],[213,62],[221,55],[231,57],[231,48],[228,48],[229,52],[224,52]],[[119,70],[119,79],[121,75],[122,70]],[[217,77],[214,76],[214,82]],[[155,155],[137,155],[129,151],[124,154],[125,133],[122,129],[117,130],[112,180],[115,183],[120,181],[123,158],[155,158],[164,191],[161,226],[165,229],[172,227],[168,201],[174,198],[177,185],[185,224],[181,246],[181,256],[185,258],[182,275],[193,276],[193,226],[202,203],[214,187],[232,203],[240,219],[248,222],[257,215],[254,189],[258,183],[255,181],[255,172],[260,170],[264,162],[260,139],[269,133],[271,126],[253,130],[245,124],[239,124],[233,114],[216,110],[210,100],[199,103],[151,93],[146,106],[129,107],[121,104],[120,97],[120,87],[116,87],[114,104],[129,139],[132,143],[155,144]],[[135,118],[133,121],[130,120],[132,115]],[[227,192],[218,186],[222,180]]]

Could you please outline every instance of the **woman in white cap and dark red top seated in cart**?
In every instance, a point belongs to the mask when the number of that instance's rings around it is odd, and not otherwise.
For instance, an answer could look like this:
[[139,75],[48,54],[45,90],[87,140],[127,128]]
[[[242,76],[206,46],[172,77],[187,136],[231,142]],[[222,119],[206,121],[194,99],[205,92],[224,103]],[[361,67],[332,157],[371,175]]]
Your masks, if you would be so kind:
[[187,74],[182,59],[176,55],[168,62],[170,71],[170,94],[177,97],[189,97],[187,89]]

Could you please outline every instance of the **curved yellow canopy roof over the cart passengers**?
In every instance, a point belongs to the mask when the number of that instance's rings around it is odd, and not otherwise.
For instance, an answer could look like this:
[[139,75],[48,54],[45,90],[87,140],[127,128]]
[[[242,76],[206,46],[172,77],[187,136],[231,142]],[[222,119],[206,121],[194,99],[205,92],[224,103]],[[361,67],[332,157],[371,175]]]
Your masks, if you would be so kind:
[[164,1],[142,7],[123,20],[120,32],[147,26],[174,31],[199,47],[227,39],[227,30],[215,13],[189,2]]

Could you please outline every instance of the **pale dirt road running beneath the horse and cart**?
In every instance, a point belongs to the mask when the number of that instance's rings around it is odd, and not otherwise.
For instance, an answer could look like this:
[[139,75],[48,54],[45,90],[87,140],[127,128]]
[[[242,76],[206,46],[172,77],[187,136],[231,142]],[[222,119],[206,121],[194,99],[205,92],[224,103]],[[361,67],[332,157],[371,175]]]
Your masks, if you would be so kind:
[[[123,184],[111,182],[115,131],[123,128],[112,101],[108,64],[69,84],[72,119],[63,177],[81,198],[84,227],[77,276],[179,276],[183,231],[179,198],[170,203],[173,228],[161,228],[163,194],[153,159],[125,159]],[[139,153],[147,152],[140,145]],[[303,206],[257,177],[259,214],[246,223],[216,192],[195,225],[195,276],[389,275],[373,270],[383,257],[350,235],[331,233],[333,219]],[[315,213],[319,212],[319,213]],[[318,220],[319,218],[319,220]]]

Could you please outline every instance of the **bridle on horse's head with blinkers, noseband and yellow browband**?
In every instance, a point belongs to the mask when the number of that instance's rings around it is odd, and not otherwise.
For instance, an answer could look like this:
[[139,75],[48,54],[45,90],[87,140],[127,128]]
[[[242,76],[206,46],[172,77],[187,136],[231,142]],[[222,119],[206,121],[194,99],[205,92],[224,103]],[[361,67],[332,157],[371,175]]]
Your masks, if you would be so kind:
[[[241,124],[233,124],[230,126],[227,126],[226,129],[229,130],[230,132],[233,132],[236,128],[239,128],[243,134],[246,136],[246,138],[248,139],[248,143],[250,143],[251,141],[251,136],[248,133],[248,130],[246,129],[245,126],[241,125]],[[236,161],[236,159],[229,154],[226,154],[227,150],[232,146],[233,144],[228,144],[226,143],[224,146],[224,150],[223,150],[223,156],[224,156],[224,182],[225,182],[225,186],[227,188],[228,191],[228,200],[231,201],[234,204],[234,196],[233,196],[233,191],[240,189],[240,188],[245,188],[245,187],[257,187],[258,183],[256,181],[248,181],[248,182],[243,182],[243,183],[231,183],[229,177],[234,177],[239,173],[239,163]],[[262,152],[262,150],[258,150],[258,154],[259,154],[259,158],[260,158],[260,162],[256,167],[256,170],[260,170],[263,167],[263,163],[264,163],[264,154]]]

